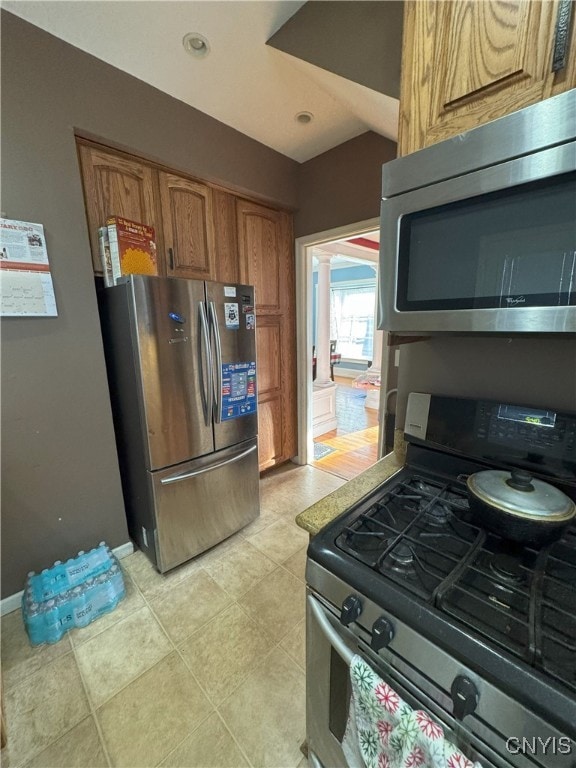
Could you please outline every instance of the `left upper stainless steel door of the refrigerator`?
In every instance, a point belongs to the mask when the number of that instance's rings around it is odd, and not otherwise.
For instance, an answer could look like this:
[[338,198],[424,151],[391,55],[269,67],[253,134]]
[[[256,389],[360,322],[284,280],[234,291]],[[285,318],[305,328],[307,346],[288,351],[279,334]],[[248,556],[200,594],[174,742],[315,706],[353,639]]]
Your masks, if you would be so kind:
[[134,357],[140,373],[145,439],[151,470],[178,464],[214,449],[212,424],[203,411],[200,302],[195,280],[132,275]]

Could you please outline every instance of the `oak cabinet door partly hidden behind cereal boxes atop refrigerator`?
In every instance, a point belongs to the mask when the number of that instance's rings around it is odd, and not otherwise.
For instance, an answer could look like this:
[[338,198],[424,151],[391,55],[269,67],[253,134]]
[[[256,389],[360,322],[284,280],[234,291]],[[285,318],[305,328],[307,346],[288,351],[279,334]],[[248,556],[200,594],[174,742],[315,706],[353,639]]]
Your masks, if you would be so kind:
[[78,145],[78,153],[92,263],[94,272],[101,275],[98,227],[106,224],[108,216],[124,216],[154,227],[158,244],[161,234],[155,213],[154,171],[136,158],[129,159],[86,144]]

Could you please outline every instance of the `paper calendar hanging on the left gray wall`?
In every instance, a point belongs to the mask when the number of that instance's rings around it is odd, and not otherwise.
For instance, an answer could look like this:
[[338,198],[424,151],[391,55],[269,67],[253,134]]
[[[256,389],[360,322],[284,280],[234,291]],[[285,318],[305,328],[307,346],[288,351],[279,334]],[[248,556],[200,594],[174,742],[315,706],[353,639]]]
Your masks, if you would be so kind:
[[0,219],[0,315],[58,315],[42,224]]

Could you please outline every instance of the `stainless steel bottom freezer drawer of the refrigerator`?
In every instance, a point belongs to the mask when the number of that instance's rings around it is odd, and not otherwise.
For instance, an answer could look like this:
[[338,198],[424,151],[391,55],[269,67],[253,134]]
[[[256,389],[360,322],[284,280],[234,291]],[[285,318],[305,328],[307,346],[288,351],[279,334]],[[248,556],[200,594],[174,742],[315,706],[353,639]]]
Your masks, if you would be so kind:
[[161,573],[218,544],[260,512],[256,439],[149,476]]

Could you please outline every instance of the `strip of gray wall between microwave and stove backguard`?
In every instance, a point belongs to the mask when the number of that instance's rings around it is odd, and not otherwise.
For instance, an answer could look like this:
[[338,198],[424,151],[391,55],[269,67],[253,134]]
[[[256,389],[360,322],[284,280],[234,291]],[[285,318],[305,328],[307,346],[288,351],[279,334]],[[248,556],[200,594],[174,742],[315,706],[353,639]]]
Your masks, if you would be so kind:
[[409,392],[431,392],[576,411],[576,341],[438,337],[400,347],[396,426]]

